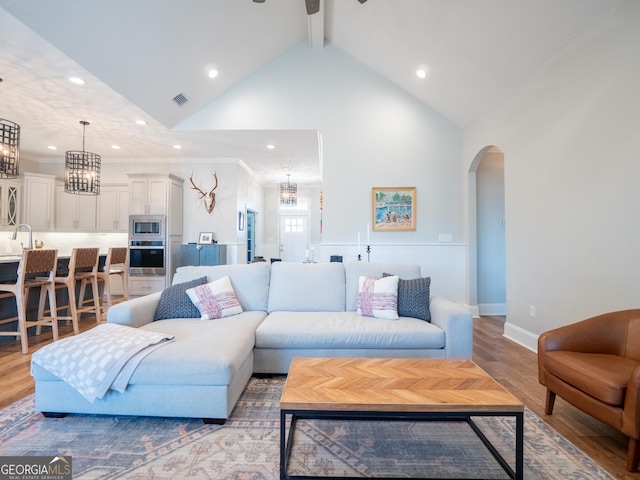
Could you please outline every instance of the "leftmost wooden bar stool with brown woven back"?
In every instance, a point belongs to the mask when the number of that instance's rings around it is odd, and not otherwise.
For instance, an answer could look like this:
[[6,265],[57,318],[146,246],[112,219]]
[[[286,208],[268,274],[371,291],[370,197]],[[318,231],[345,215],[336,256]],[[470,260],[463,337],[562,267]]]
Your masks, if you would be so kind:
[[[18,320],[18,330],[10,332],[0,332],[2,336],[20,337],[22,353],[28,353],[29,340],[27,329],[29,327],[50,326],[53,332],[53,340],[58,340],[58,319],[56,316],[56,295],[53,279],[56,273],[56,263],[58,259],[57,250],[24,250],[22,258],[18,264],[18,278],[16,283],[0,284],[1,297],[14,296],[18,316],[0,320],[0,324],[14,322]],[[46,274],[46,277],[35,277],[35,275]],[[27,320],[27,302],[29,300],[29,290],[40,288],[40,303],[44,305],[46,297],[49,298],[50,316],[44,317],[40,310],[36,320]],[[44,295],[44,294],[47,295]]]

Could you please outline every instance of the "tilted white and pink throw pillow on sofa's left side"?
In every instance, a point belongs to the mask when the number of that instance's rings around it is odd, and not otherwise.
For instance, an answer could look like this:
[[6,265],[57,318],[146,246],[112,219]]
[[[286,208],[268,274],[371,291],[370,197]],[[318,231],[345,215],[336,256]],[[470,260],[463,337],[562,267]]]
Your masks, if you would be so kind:
[[187,290],[187,295],[200,312],[201,319],[213,320],[242,313],[242,305],[236,297],[229,277]]

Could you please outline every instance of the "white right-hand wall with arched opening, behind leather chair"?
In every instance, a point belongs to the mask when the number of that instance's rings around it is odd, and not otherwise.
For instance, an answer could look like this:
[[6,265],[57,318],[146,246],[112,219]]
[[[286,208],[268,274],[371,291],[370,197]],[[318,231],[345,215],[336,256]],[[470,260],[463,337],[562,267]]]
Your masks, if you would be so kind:
[[639,306],[638,25],[640,2],[625,2],[465,128],[465,172],[483,148],[504,152],[505,333],[532,348],[550,328]]

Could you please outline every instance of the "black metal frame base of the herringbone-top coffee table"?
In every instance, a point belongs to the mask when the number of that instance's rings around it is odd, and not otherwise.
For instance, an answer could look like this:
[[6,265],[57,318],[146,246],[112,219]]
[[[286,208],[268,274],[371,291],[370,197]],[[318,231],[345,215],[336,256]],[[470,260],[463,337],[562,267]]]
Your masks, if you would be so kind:
[[[289,434],[287,435],[287,415],[291,417],[289,425]],[[510,416],[516,419],[516,465],[515,470],[502,457],[500,452],[491,444],[489,439],[482,433],[478,426],[474,423],[472,417],[500,417]],[[491,452],[496,461],[502,466],[509,478],[522,480],[524,470],[524,413],[523,412],[362,412],[362,411],[324,411],[324,410],[280,410],[280,478],[281,479],[302,479],[310,478],[304,476],[289,476],[287,473],[289,459],[291,457],[291,445],[293,443],[293,434],[298,419],[314,419],[314,420],[408,420],[408,421],[464,421],[476,433],[478,438]],[[470,472],[471,473],[471,472]],[[321,477],[321,478],[343,478],[343,477]],[[406,477],[376,477],[386,478],[388,480],[396,480]],[[433,480],[434,477],[424,477]],[[470,477],[474,478],[474,477]]]

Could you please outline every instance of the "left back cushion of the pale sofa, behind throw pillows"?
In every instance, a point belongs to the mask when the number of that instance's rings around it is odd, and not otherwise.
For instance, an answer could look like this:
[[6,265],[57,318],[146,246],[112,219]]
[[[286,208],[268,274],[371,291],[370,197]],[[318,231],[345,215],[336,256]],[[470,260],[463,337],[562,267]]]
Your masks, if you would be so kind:
[[270,266],[265,262],[249,264],[179,267],[173,284],[207,276],[208,282],[228,276],[243,310],[267,311]]

